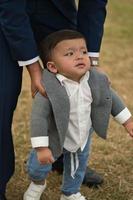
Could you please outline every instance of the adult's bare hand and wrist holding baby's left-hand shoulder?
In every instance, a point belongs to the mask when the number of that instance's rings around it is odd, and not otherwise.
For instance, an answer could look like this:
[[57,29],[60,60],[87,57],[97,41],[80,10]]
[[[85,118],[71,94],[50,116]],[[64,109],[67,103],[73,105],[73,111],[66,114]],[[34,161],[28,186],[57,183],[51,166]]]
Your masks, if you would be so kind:
[[42,80],[42,68],[37,61],[27,66],[27,70],[31,78],[31,93],[34,98],[36,93],[39,92],[43,96],[47,96],[44,86],[41,83]]

